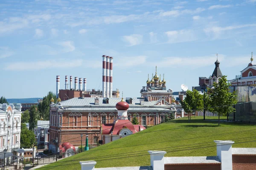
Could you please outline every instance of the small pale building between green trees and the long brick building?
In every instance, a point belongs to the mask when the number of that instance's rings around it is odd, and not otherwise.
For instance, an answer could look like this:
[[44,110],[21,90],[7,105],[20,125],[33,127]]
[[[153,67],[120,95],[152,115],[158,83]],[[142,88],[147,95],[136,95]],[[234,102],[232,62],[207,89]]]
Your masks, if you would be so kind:
[[50,121],[38,120],[37,127],[34,129],[35,139],[38,149],[47,149],[49,144],[49,123]]

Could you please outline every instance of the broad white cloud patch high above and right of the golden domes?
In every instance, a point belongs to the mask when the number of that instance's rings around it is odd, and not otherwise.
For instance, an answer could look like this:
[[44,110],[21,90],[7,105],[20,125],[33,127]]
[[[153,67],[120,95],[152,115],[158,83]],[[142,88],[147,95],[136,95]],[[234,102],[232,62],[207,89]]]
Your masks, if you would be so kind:
[[197,39],[192,30],[167,31],[168,43],[189,42]]

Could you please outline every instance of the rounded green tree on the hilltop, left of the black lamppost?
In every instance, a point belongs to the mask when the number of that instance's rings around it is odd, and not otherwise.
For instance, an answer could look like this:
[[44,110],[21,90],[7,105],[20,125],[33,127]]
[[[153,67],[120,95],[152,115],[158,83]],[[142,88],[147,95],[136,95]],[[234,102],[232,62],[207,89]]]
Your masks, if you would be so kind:
[[189,119],[191,119],[191,113],[201,111],[204,108],[203,96],[195,89],[186,91],[186,98],[180,103],[184,111],[189,114]]

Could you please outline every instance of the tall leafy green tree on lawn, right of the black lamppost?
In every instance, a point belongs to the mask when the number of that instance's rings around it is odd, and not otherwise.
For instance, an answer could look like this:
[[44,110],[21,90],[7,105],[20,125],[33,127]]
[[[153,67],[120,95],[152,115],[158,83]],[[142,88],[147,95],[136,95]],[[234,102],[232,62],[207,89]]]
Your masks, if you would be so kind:
[[209,94],[211,100],[212,111],[218,113],[218,125],[220,125],[220,116],[232,113],[236,109],[233,105],[236,105],[236,91],[233,93],[229,90],[230,83],[227,81],[227,76],[221,77],[218,83],[214,82],[214,89]]

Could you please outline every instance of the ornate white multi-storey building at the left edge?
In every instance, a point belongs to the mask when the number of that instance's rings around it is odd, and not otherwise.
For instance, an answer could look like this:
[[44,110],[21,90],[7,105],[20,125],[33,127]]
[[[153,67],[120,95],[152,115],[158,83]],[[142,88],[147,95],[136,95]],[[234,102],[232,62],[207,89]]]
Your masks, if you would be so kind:
[[20,148],[20,122],[21,105],[6,103],[0,104],[0,159],[4,158],[3,150],[6,149],[6,162],[10,162],[10,156],[20,156],[23,152]]

